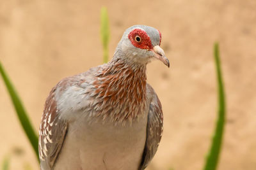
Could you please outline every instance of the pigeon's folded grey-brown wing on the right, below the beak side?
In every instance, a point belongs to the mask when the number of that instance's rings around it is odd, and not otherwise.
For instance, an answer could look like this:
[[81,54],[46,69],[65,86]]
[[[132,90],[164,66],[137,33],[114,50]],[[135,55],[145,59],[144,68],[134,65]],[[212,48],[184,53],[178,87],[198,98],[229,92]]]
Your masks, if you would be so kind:
[[[150,87],[152,89],[152,87]],[[153,89],[152,89],[153,90]],[[154,157],[159,142],[163,134],[163,111],[161,103],[153,90],[153,98],[150,103],[147,124],[147,138],[140,170],[148,166],[150,160]]]

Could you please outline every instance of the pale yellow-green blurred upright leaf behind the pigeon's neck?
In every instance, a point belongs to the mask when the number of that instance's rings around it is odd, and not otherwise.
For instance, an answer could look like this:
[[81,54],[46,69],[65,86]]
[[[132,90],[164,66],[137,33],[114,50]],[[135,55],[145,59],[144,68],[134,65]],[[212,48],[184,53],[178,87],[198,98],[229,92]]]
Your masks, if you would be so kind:
[[100,11],[100,36],[103,45],[103,62],[108,62],[108,44],[109,44],[109,19],[106,7]]

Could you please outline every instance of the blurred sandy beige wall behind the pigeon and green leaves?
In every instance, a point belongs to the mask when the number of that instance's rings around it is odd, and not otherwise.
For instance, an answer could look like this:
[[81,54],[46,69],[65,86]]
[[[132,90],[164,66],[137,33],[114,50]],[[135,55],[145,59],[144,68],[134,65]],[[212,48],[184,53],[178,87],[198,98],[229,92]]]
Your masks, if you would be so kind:
[[[162,32],[168,69],[148,65],[164,111],[164,134],[148,170],[202,169],[216,120],[214,41],[220,42],[227,125],[220,170],[256,169],[256,1],[0,2],[0,60],[38,130],[44,101],[65,76],[102,64],[100,8],[109,11],[109,55],[127,27]],[[0,78],[0,162],[39,169]],[[19,154],[15,154],[19,153]]]

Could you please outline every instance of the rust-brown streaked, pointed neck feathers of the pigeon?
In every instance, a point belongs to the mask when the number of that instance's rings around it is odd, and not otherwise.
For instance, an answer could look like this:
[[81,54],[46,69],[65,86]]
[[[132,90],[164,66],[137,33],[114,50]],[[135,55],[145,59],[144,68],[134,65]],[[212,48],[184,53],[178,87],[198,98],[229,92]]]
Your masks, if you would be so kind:
[[[122,60],[112,60],[93,82],[95,104],[101,114],[110,115],[115,121],[131,120],[145,109],[146,66],[132,67]],[[115,108],[115,109],[114,109]]]

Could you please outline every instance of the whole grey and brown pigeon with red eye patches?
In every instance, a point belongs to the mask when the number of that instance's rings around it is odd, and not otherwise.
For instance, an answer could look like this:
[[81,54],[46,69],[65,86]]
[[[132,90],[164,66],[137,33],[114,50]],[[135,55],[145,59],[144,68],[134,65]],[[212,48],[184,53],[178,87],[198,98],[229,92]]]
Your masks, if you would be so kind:
[[147,83],[147,64],[170,67],[161,32],[125,30],[106,64],[62,79],[45,101],[39,128],[40,169],[142,170],[163,134],[163,111]]

